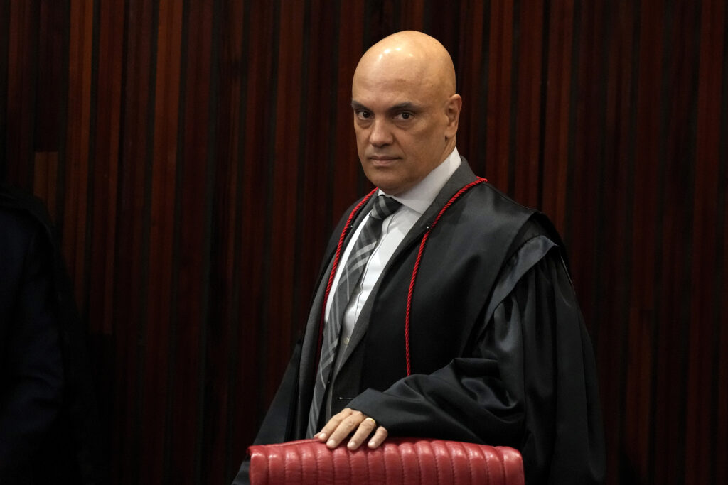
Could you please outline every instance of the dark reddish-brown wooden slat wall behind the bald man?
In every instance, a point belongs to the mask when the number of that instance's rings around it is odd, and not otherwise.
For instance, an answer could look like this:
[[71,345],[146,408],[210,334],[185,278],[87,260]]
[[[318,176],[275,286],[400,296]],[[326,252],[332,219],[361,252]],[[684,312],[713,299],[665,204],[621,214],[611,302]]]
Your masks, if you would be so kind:
[[118,484],[232,479],[371,185],[358,57],[432,33],[459,151],[555,222],[609,483],[728,479],[720,0],[0,0],[0,174],[47,202]]

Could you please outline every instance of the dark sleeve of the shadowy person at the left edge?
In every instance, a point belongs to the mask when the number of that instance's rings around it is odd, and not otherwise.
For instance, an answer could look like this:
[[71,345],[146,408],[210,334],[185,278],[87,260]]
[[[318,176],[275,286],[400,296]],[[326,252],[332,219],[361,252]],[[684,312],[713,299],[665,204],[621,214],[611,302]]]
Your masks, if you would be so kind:
[[30,235],[19,234],[16,241],[14,248],[25,241],[27,245],[0,255],[16,258],[20,268],[12,282],[17,288],[12,294],[6,289],[7,301],[0,310],[5,329],[0,369],[0,475],[25,465],[43,442],[63,402],[52,248],[40,225]]

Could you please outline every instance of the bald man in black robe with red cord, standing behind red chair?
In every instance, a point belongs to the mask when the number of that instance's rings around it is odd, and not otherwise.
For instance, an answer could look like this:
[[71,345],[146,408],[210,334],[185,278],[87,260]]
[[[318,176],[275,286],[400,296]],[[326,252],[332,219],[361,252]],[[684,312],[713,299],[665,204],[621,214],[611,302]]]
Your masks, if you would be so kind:
[[424,33],[395,33],[361,58],[354,127],[379,191],[334,231],[256,442],[508,445],[528,483],[600,483],[593,350],[561,241],[543,215],[472,174],[456,149],[461,106],[448,52]]

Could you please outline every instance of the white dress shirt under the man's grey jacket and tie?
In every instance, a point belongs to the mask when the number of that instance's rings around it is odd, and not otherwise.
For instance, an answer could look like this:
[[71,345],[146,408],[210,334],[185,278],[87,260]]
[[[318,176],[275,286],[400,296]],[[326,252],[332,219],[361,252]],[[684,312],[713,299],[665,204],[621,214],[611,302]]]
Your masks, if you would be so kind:
[[[393,199],[400,201],[402,206],[382,222],[379,241],[377,241],[377,245],[364,268],[360,285],[354,290],[352,298],[349,300],[349,305],[347,305],[347,309],[344,311],[344,322],[339,337],[337,360],[344,354],[344,348],[349,345],[349,338],[352,336],[352,332],[354,332],[354,326],[364,303],[371,294],[371,290],[376,284],[376,281],[379,280],[379,276],[381,276],[381,272],[384,270],[384,266],[387,265],[389,258],[392,257],[392,254],[394,254],[397,246],[405,238],[405,235],[414,223],[417,222],[419,217],[422,216],[424,211],[427,210],[427,207],[430,207],[432,201],[435,200],[435,196],[438,195],[440,189],[443,188],[459,166],[460,156],[457,148],[455,148],[438,167],[435,167],[417,185],[401,193],[399,196],[392,196]],[[376,195],[379,196],[379,194],[384,194],[384,192],[380,190]],[[369,215],[366,217],[369,217]],[[341,255],[341,260],[339,260],[339,267],[336,268],[336,276],[333,278],[332,288],[336,288],[339,284],[341,271],[347,265],[349,254],[352,252],[355,241],[358,239],[365,222],[366,220],[362,220],[351,239],[349,239],[349,244],[347,244],[344,253]],[[331,310],[331,300],[333,298],[330,297],[326,302],[325,318],[327,323],[328,314]],[[335,368],[339,364],[340,362],[337,363]]]

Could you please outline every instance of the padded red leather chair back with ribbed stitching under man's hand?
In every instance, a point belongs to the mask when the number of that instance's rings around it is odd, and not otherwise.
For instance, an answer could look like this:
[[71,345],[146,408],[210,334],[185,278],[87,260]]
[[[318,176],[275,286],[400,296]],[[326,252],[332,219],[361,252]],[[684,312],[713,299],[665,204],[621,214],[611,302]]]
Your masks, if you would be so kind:
[[328,449],[318,440],[256,445],[250,483],[523,485],[521,454],[507,446],[389,438],[377,449]]

